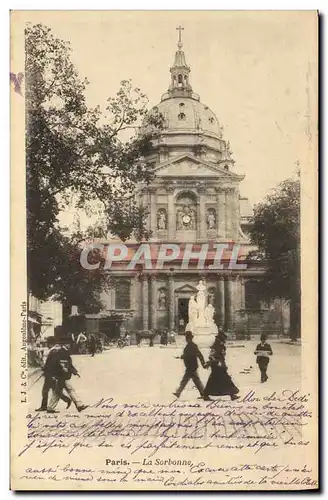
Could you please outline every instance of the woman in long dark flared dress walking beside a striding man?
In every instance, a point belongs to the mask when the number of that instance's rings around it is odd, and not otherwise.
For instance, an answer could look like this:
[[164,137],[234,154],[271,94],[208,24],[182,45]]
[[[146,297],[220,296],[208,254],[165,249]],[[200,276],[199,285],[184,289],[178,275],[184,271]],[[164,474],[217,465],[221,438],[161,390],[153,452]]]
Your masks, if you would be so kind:
[[239,389],[228,374],[225,362],[225,337],[223,332],[219,332],[210,350],[207,366],[211,367],[211,374],[204,390],[205,400],[210,400],[209,396],[230,396],[232,401],[239,398]]

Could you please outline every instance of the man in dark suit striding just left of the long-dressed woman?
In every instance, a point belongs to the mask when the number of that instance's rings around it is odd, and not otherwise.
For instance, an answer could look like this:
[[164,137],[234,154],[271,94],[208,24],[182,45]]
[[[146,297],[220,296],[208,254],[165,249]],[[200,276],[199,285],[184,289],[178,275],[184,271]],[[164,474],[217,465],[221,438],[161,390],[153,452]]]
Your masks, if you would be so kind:
[[183,389],[186,387],[187,383],[191,379],[194,382],[197,389],[199,390],[200,395],[202,397],[204,397],[204,386],[203,386],[203,384],[199,378],[198,372],[197,372],[197,369],[198,369],[197,359],[200,360],[203,368],[205,368],[205,360],[204,360],[202,353],[198,349],[198,346],[192,341],[192,339],[193,339],[192,332],[189,332],[189,331],[186,332],[185,337],[186,337],[187,345],[184,348],[182,356],[178,356],[177,359],[183,359],[185,367],[186,367],[186,371],[182,377],[182,380],[180,382],[178,389],[173,393],[173,395],[176,396],[177,398],[179,398]]

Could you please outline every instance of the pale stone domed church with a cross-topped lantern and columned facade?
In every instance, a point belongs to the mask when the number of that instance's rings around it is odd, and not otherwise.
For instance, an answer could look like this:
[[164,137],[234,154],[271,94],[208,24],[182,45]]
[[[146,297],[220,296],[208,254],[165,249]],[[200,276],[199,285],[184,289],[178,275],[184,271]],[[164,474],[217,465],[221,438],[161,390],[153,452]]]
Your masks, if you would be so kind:
[[[201,279],[218,326],[245,333],[281,330],[277,318],[282,315],[266,308],[253,293],[256,277],[264,271],[263,262],[248,261],[246,269],[229,264],[233,244],[239,245],[238,262],[254,249],[247,238],[252,208],[240,195],[244,175],[235,171],[230,144],[217,116],[193,91],[182,28],[178,29],[169,88],[151,110],[164,120],[161,135],[154,140],[154,152],[147,158],[155,178],[150,185],[139,185],[137,193],[149,212],[152,255],[163,244],[178,245],[181,253],[160,269],[155,265],[140,265],[138,272],[130,273],[113,269],[116,286],[103,296],[104,311],[89,315],[88,330],[106,333],[113,328],[111,317],[121,314],[127,330],[169,328],[183,334],[189,299],[197,294]],[[206,244],[209,251],[202,254]],[[227,260],[211,266],[220,244],[228,247]],[[183,249],[188,245],[194,254],[184,265]]]

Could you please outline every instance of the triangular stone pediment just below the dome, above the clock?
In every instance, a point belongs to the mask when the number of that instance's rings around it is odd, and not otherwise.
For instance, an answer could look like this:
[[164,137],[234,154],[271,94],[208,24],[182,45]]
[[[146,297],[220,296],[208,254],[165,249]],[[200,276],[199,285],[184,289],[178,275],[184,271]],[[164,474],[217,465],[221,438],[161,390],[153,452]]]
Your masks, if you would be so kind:
[[236,177],[236,174],[227,172],[218,165],[204,162],[191,155],[183,155],[160,163],[155,168],[155,173],[157,177],[217,177],[222,179]]

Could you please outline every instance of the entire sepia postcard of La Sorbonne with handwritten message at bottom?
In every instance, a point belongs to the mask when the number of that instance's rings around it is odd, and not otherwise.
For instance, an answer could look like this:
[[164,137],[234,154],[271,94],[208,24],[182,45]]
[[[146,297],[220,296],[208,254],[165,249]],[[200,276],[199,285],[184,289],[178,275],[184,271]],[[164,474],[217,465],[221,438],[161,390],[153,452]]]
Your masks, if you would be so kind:
[[318,489],[317,45],[12,11],[13,490]]

